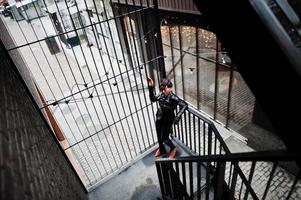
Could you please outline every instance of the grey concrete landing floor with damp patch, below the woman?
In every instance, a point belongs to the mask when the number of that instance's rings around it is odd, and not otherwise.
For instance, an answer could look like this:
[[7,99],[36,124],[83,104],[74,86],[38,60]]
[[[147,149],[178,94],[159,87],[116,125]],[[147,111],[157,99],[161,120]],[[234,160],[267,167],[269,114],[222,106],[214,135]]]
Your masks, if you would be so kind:
[[[175,143],[176,145],[176,143]],[[188,156],[179,145],[177,156]],[[158,200],[161,199],[155,166],[155,151],[151,152],[125,171],[116,175],[88,194],[89,200]]]

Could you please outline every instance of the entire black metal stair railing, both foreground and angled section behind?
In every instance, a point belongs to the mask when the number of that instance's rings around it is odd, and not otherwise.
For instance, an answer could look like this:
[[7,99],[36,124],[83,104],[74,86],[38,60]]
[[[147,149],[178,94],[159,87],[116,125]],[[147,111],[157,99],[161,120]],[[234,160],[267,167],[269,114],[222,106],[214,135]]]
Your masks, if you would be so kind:
[[[189,108],[175,137],[195,155],[156,160],[163,199],[296,199],[301,194],[301,154],[286,151],[230,153],[212,122]],[[282,168],[290,161],[295,169]],[[282,180],[282,182],[281,182]]]

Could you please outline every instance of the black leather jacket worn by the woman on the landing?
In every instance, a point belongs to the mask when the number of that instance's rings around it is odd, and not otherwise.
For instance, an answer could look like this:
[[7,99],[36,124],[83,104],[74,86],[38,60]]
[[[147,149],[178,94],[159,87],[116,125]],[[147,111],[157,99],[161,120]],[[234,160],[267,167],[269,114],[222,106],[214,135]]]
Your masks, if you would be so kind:
[[[150,87],[149,89],[150,100],[152,102],[159,102],[160,109],[157,111],[157,118],[174,118],[174,122],[178,122],[181,115],[188,107],[187,103],[180,99],[173,92],[170,92],[167,96],[161,92],[156,96],[154,94],[154,87]],[[175,116],[174,110],[176,109],[177,105],[180,106],[181,110]]]

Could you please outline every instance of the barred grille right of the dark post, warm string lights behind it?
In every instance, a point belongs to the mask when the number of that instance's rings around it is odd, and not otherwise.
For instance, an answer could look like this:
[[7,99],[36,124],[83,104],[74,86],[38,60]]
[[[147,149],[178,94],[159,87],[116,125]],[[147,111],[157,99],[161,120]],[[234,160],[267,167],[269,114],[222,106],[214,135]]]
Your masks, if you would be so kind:
[[255,97],[215,34],[166,23],[161,26],[164,61],[177,95],[235,131],[252,123]]

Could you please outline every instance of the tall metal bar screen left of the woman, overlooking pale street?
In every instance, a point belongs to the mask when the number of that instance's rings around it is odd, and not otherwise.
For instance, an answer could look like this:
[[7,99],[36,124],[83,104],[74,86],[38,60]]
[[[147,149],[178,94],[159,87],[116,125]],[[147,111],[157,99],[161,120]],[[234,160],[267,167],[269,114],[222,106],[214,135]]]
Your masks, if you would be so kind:
[[138,21],[153,6],[137,1],[121,11],[110,0],[37,2],[12,5],[24,20],[1,16],[14,41],[7,49],[23,57],[41,109],[54,117],[54,132],[63,133],[58,139],[89,190],[156,143],[146,77],[157,57],[143,56]]

